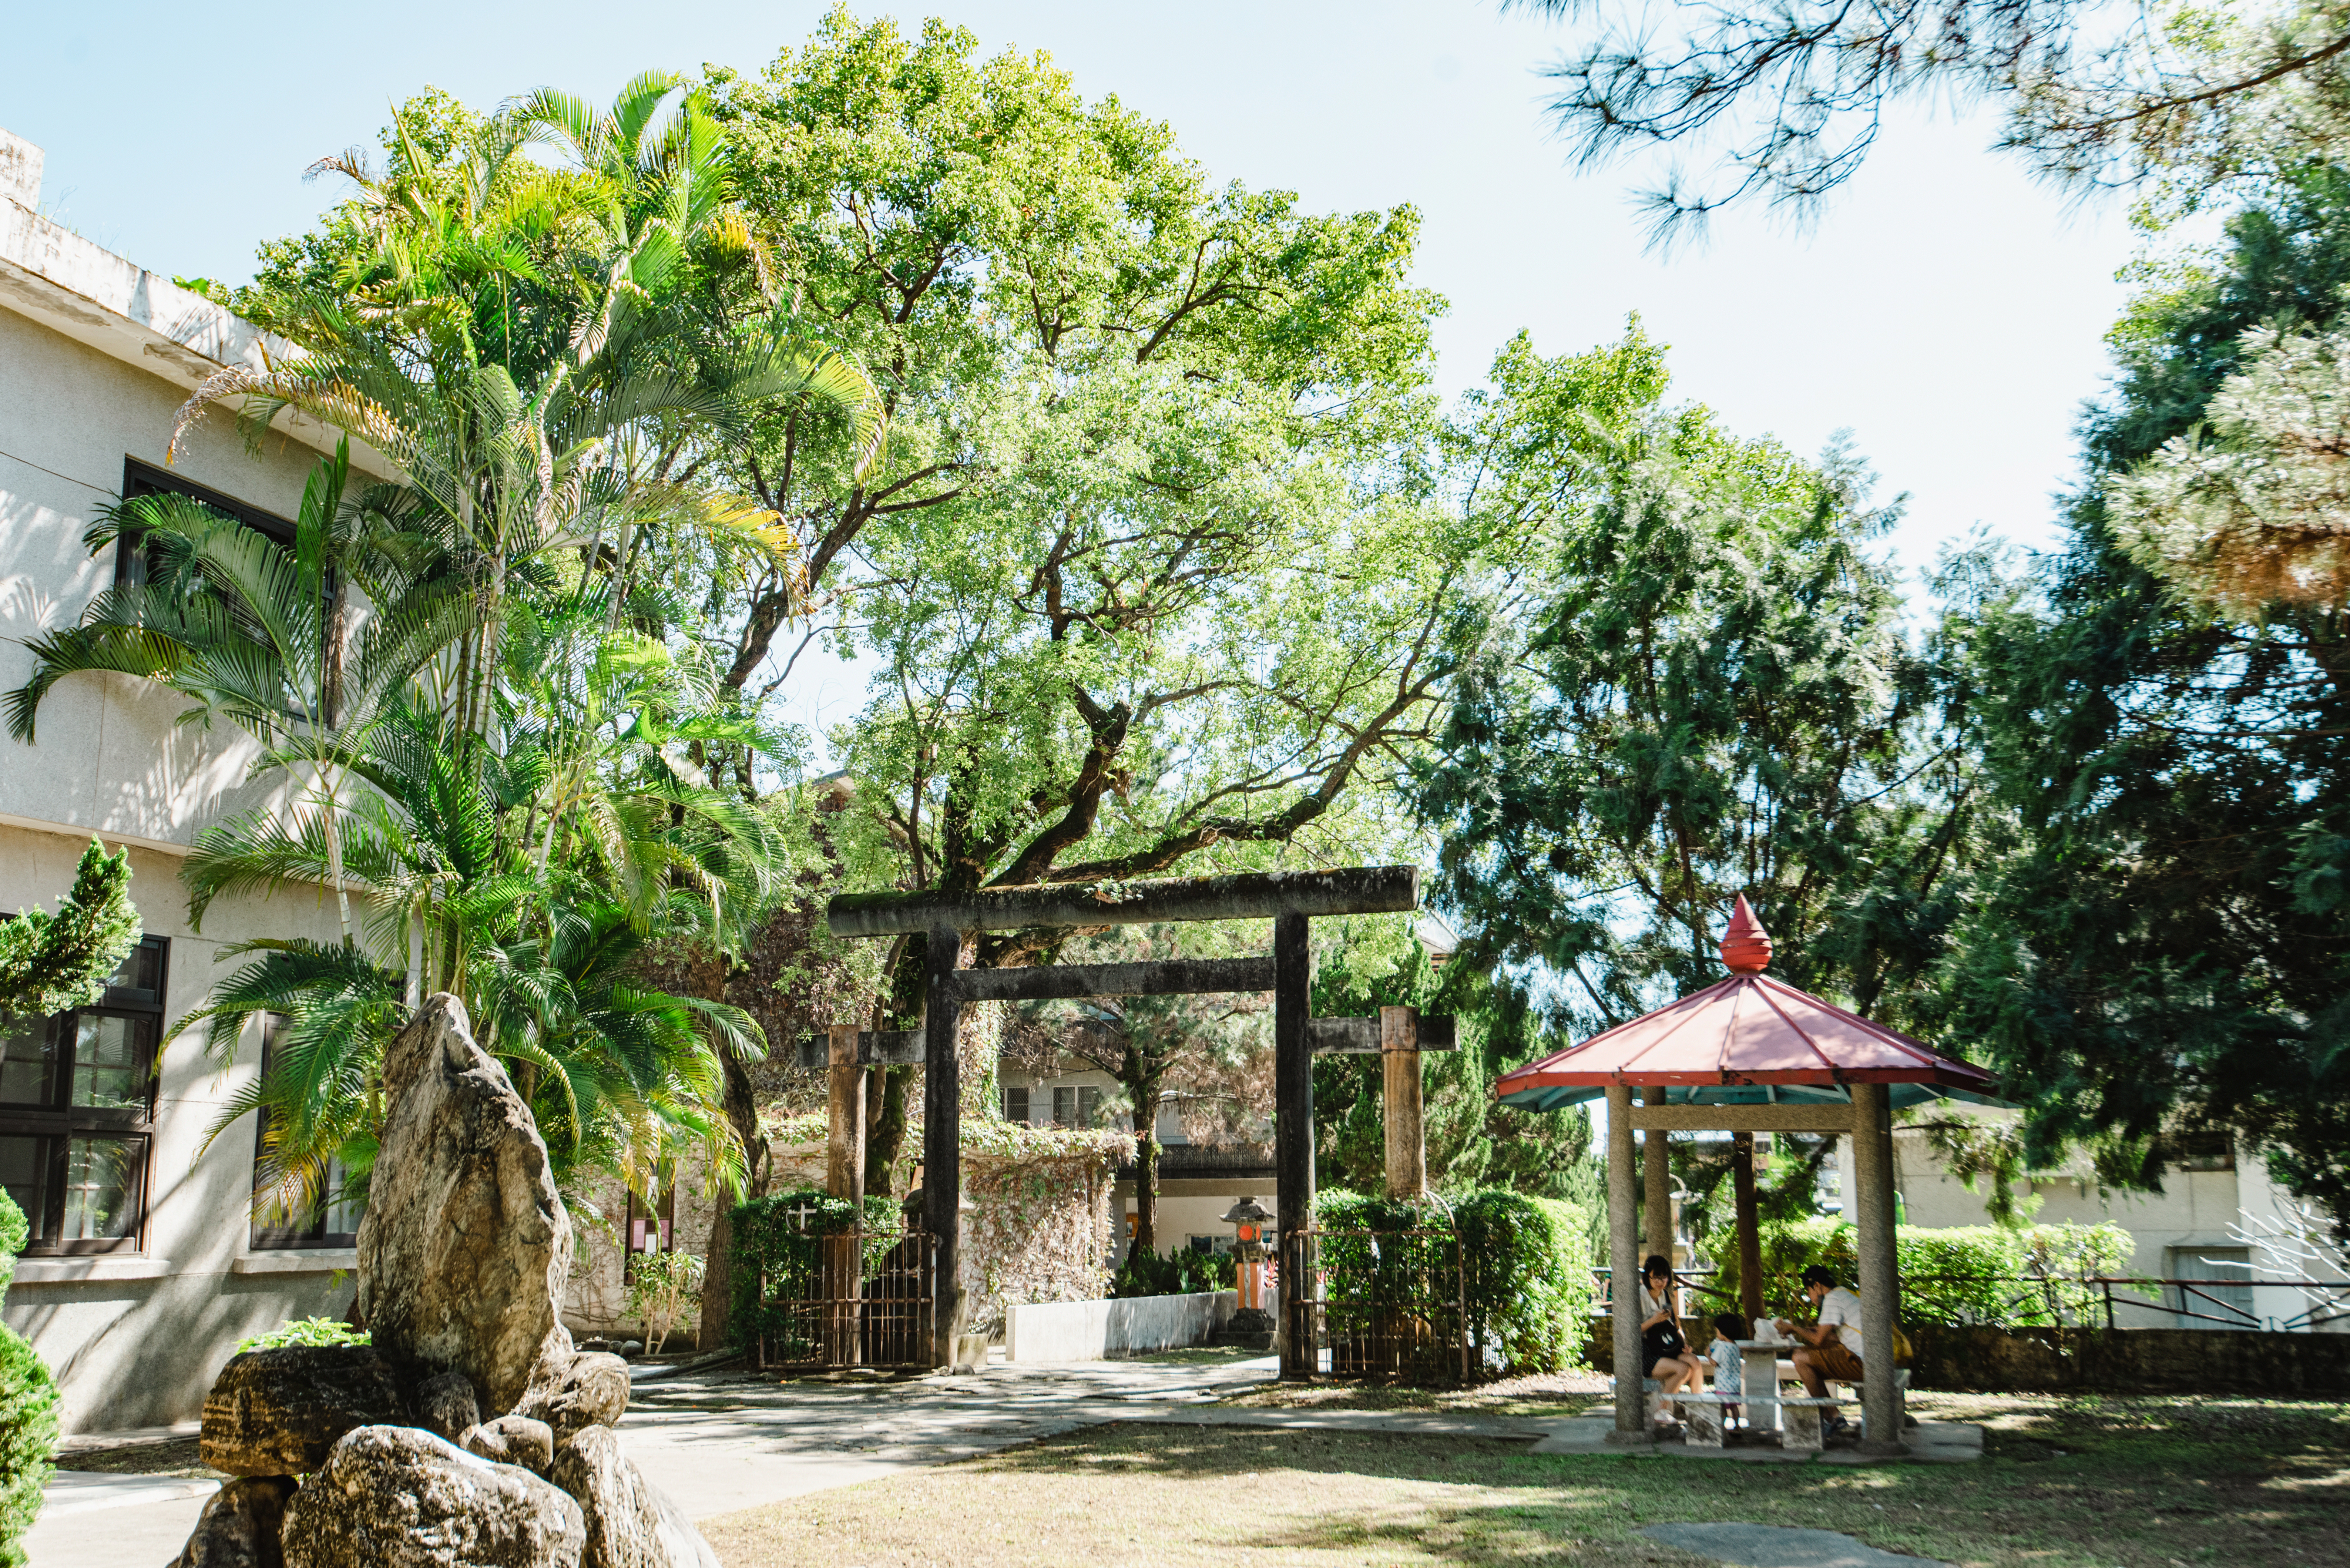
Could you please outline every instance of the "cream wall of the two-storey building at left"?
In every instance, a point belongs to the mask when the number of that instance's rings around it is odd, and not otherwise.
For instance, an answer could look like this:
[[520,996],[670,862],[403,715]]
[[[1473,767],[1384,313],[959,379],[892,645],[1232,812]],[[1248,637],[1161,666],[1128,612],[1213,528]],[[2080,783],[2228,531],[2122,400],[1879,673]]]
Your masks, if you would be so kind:
[[[82,530],[120,491],[125,458],[162,465],[172,415],[219,364],[209,354],[256,340],[0,192],[0,688],[31,671],[21,638],[70,624],[113,582],[110,552],[92,559]],[[172,469],[294,516],[315,458],[275,432],[249,455],[214,413]],[[204,1000],[226,944],[338,930],[317,894],[221,899],[202,932],[188,922],[186,845],[273,786],[244,784],[240,732],[181,725],[183,707],[122,676],[70,676],[42,702],[35,744],[0,737],[0,911],[52,908],[92,836],[129,845],[132,901],[172,941],[164,1028]],[[66,1432],[188,1420],[237,1338],[348,1310],[350,1251],[249,1246],[251,1117],[204,1148],[258,1056],[258,1030],[223,1061],[193,1035],[162,1054],[136,1251],[19,1261],[0,1314],[59,1373]]]

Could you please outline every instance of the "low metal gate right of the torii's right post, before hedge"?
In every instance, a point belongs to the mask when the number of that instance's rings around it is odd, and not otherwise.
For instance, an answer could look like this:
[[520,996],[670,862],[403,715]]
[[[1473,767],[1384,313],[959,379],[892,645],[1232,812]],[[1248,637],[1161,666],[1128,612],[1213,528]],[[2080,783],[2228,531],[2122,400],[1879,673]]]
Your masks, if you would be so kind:
[[1314,1376],[1469,1383],[1469,1272],[1450,1230],[1304,1230],[1281,1239],[1288,1343]]

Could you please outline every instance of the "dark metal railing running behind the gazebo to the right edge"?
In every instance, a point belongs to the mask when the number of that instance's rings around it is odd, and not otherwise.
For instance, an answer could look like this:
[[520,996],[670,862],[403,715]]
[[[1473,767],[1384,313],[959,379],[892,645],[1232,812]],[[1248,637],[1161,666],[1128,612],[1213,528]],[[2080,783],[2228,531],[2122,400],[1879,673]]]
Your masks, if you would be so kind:
[[[1720,1300],[1734,1310],[1730,1291],[1706,1284],[1720,1270],[1680,1270],[1676,1284],[1694,1296]],[[1612,1270],[1593,1268],[1593,1314],[1612,1312],[1607,1286]],[[1791,1279],[1770,1279],[1765,1296],[1788,1300]],[[2148,1298],[2155,1289],[2164,1298]],[[2310,1303],[2291,1317],[2261,1317],[2237,1293],[2251,1289],[2301,1291]],[[2214,1291],[2228,1291],[2216,1296]],[[2343,1279],[2174,1279],[2162,1275],[1904,1275],[1901,1322],[1906,1324],[1981,1324],[1990,1329],[2115,1329],[2120,1312],[2160,1312],[2240,1331],[2294,1333],[2350,1319],[2350,1282]],[[1690,1317],[1690,1312],[1683,1312]]]

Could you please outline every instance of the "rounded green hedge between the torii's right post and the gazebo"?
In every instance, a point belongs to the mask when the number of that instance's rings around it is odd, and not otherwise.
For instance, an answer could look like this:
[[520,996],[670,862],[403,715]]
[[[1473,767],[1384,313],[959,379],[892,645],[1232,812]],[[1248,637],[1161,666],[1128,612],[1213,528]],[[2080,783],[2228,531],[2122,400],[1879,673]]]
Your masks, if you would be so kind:
[[[1591,1261],[1589,1223],[1577,1204],[1509,1188],[1429,1204],[1332,1190],[1316,1199],[1314,1218],[1323,1232],[1330,1300],[1396,1305],[1429,1296],[1434,1310],[1459,1291],[1473,1364],[1488,1373],[1563,1371],[1579,1354],[1591,1314]],[[1405,1230],[1450,1232],[1452,1239],[1379,1242]],[[1455,1242],[1462,1275],[1443,1289]]]

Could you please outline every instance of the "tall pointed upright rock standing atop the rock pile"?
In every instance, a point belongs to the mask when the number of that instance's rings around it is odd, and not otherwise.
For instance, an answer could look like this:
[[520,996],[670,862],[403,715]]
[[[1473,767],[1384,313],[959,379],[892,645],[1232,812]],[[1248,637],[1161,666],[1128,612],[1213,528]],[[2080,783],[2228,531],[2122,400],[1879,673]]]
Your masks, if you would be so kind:
[[404,1383],[461,1371],[484,1411],[510,1411],[536,1371],[571,1357],[555,1317],[571,1216],[548,1145],[454,995],[430,998],[383,1052],[383,1089],[360,1312]]

